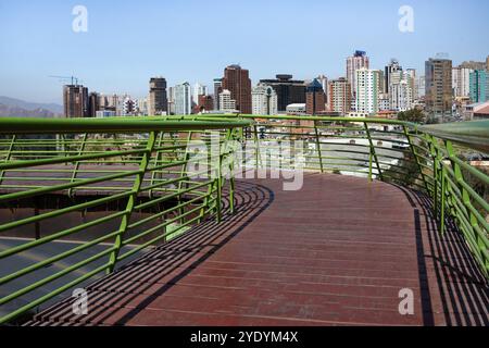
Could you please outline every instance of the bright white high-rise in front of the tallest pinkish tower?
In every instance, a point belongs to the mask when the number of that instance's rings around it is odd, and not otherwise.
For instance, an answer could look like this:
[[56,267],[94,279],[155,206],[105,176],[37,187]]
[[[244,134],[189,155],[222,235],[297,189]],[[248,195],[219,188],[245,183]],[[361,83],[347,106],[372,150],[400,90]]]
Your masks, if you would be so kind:
[[378,112],[380,74],[376,70],[356,70],[356,112],[363,114],[374,114]]

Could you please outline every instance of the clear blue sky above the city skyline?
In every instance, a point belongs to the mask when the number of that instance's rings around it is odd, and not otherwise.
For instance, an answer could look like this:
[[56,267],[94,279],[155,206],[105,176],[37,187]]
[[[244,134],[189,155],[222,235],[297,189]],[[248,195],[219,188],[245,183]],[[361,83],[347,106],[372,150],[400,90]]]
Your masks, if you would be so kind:
[[[88,33],[72,30],[72,9],[88,9]],[[414,9],[415,30],[398,29]],[[212,84],[240,63],[253,83],[277,73],[344,75],[344,60],[367,51],[424,70],[447,52],[455,64],[489,54],[487,0],[0,0],[0,95],[61,102],[61,83],[79,76],[90,90],[147,94],[150,76],[170,85]]]

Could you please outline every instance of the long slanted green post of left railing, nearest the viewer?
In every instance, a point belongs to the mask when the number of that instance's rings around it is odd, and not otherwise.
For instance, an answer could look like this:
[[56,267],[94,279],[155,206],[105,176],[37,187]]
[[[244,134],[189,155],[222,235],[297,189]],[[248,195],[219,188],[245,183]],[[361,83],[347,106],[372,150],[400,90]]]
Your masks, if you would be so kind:
[[118,227],[118,233],[114,240],[115,250],[111,252],[109,266],[106,269],[108,273],[112,273],[114,271],[115,264],[117,262],[118,252],[121,251],[122,248],[123,237],[127,231],[127,226],[129,225],[130,215],[133,213],[133,209],[136,204],[138,194],[141,189],[142,182],[145,179],[145,174],[151,159],[151,153],[154,148],[155,139],[156,139],[155,132],[151,132],[148,138],[148,142],[146,145],[145,153],[141,157],[141,162],[139,163],[139,172],[138,174],[136,174],[136,179],[134,181],[133,184],[131,195],[127,200],[125,214],[122,217],[121,226]]

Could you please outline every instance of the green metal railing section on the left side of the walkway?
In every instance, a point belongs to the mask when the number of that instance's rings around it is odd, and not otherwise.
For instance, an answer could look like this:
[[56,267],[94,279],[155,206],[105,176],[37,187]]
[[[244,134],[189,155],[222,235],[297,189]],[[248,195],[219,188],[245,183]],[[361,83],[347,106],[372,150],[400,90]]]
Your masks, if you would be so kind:
[[[58,209],[45,208],[41,213],[35,209],[13,220],[2,217],[0,237],[38,231],[40,224],[45,231],[42,236],[37,233],[36,239],[14,239],[14,245],[0,248],[0,288],[8,288],[1,291],[0,323],[93,276],[113,272],[140,250],[164,243],[192,224],[212,215],[221,220],[226,184],[221,166],[233,156],[226,144],[248,124],[229,120],[0,119],[1,208],[14,212],[42,197],[71,198]],[[33,134],[36,137],[28,136]],[[204,146],[213,140],[217,152],[204,154],[209,165],[189,171],[196,156],[188,148],[197,140]],[[234,185],[230,187],[233,201]],[[85,198],[77,200],[78,196]],[[117,209],[108,208],[111,204]],[[98,213],[87,219],[89,212]],[[66,226],[74,213],[83,219]],[[95,228],[98,233],[87,235]],[[42,251],[66,238],[78,243],[65,251]],[[14,303],[20,300],[22,304]]]

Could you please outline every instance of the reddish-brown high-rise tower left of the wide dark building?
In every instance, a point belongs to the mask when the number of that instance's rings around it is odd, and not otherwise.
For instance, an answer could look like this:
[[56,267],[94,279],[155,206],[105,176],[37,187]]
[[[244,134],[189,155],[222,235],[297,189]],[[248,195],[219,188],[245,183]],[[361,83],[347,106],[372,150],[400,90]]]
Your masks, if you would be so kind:
[[239,112],[251,114],[251,79],[248,70],[236,64],[227,66],[224,70],[223,89],[230,91]]

